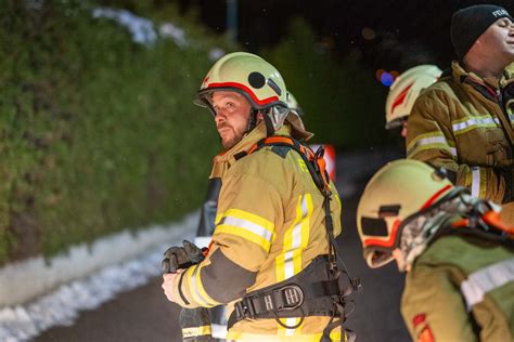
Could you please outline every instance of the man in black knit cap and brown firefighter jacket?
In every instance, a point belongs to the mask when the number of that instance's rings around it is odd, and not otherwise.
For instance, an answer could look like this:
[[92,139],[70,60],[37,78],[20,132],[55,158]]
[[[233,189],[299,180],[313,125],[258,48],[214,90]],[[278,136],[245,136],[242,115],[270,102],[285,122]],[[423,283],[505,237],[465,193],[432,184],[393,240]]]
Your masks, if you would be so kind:
[[473,196],[501,203],[514,224],[514,25],[503,8],[457,11],[452,73],[424,91],[409,117],[408,158],[449,170]]

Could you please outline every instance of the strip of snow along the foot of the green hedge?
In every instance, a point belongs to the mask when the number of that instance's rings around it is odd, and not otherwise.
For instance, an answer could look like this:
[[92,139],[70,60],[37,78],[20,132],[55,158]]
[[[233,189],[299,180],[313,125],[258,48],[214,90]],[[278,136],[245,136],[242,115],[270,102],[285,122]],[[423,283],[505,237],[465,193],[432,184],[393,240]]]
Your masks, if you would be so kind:
[[[14,295],[23,292],[21,289],[27,284],[42,282],[46,288],[50,284],[63,284],[29,303],[0,307],[0,341],[27,341],[51,327],[70,326],[80,311],[97,308],[120,292],[145,285],[160,274],[163,252],[168,247],[181,245],[182,239],[193,239],[197,222],[198,214],[194,213],[172,226],[157,226],[138,235],[123,233],[100,240],[90,251],[86,246],[72,248],[49,266],[38,258],[0,269],[3,299],[9,297],[5,291],[13,291]],[[110,258],[105,259],[106,255]],[[113,259],[118,263],[113,264]],[[41,265],[42,269],[37,269]],[[59,279],[69,277],[67,272],[72,268],[75,277],[81,273],[82,278],[70,282]],[[91,269],[97,271],[91,273]],[[44,276],[47,278],[40,278]],[[34,291],[35,287],[30,288]]]

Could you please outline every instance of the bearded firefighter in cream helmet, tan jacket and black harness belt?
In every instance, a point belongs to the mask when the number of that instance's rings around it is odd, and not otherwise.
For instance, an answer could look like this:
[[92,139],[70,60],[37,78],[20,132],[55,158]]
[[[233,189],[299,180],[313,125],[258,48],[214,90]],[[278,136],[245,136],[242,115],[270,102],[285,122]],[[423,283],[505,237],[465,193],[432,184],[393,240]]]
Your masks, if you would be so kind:
[[205,260],[164,275],[163,289],[183,307],[228,303],[229,340],[342,336],[340,202],[322,156],[298,142],[312,133],[286,96],[271,64],[235,52],[215,63],[195,100],[226,149],[210,175],[221,182],[216,227]]

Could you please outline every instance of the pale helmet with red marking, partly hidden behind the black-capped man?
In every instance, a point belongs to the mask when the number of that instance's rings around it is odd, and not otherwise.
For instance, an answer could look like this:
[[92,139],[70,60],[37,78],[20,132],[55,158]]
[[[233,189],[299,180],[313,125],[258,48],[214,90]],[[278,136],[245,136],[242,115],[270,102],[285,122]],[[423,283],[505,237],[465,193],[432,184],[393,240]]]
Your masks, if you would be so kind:
[[393,83],[386,100],[386,130],[401,126],[420,92],[432,86],[442,71],[435,65],[420,65],[403,71]]

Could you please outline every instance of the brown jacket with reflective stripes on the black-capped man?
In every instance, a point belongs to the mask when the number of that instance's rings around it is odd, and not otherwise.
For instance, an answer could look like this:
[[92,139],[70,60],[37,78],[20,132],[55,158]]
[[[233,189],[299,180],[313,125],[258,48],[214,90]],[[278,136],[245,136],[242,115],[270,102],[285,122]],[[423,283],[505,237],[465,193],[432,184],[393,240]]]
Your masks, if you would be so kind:
[[[486,81],[453,62],[452,75],[423,91],[412,108],[407,157],[445,167],[473,196],[503,203],[505,172],[513,172],[514,104],[505,100],[503,110],[501,94],[512,73],[514,65],[501,80]],[[513,206],[504,208],[509,213],[514,224]]]

